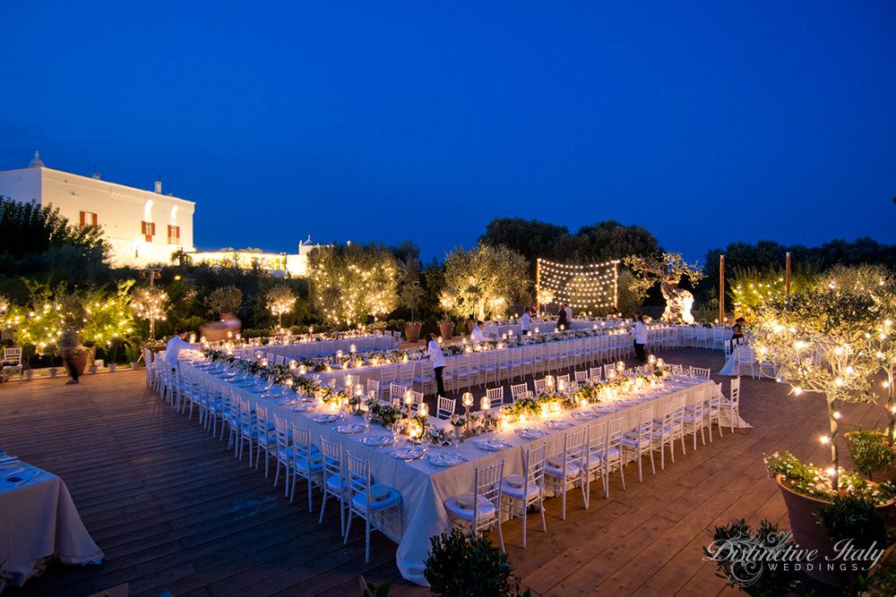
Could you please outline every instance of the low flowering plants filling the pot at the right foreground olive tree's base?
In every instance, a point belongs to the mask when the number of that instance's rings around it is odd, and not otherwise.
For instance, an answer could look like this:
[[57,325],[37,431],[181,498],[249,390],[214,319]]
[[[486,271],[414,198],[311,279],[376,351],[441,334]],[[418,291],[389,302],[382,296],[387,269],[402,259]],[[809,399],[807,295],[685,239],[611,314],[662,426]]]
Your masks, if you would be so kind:
[[812,463],[804,463],[790,452],[763,456],[765,466],[771,475],[781,475],[791,490],[814,498],[833,501],[840,494],[852,495],[873,504],[885,504],[896,499],[896,484],[885,482],[875,485],[857,473],[842,468],[838,471],[839,490],[831,490],[831,471]]

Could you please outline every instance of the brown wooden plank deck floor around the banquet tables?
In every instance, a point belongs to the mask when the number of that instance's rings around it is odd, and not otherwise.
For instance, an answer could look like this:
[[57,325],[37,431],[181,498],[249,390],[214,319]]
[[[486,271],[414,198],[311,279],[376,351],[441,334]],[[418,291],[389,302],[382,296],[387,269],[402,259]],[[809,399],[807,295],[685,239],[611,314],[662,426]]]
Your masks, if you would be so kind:
[[[721,366],[718,352],[677,350],[669,362]],[[610,499],[592,492],[559,518],[547,502],[547,533],[520,547],[518,522],[504,525],[510,560],[533,594],[655,595],[725,591],[702,545],[735,517],[787,525],[762,453],[790,449],[822,462],[822,398],[787,397],[769,380],[744,380],[742,416],[754,429],[726,432],[675,465],[637,481],[616,475]],[[728,390],[728,383],[725,385]],[[845,431],[883,421],[883,408],[847,405]],[[358,575],[393,581],[394,595],[428,594],[401,580],[395,546],[375,534],[370,564],[363,533],[348,546],[338,513],[323,525],[290,505],[263,473],[237,462],[185,416],[143,388],[142,372],[88,376],[80,386],[41,380],[0,388],[0,445],[58,474],[84,524],[106,552],[97,567],[51,567],[12,597],[89,595],[128,584],[132,595],[357,595]],[[333,516],[337,515],[337,516]]]

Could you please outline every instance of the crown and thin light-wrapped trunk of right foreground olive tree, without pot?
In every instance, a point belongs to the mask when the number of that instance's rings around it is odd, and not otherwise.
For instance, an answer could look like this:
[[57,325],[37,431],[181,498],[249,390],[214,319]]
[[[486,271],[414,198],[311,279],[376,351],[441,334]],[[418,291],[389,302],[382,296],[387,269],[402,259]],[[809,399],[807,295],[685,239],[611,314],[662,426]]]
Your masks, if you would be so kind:
[[880,310],[867,293],[836,285],[814,288],[786,300],[775,297],[759,306],[752,328],[760,361],[771,362],[791,393],[822,394],[827,405],[831,445],[831,489],[838,489],[838,400],[866,402],[877,371],[869,354],[870,332]]

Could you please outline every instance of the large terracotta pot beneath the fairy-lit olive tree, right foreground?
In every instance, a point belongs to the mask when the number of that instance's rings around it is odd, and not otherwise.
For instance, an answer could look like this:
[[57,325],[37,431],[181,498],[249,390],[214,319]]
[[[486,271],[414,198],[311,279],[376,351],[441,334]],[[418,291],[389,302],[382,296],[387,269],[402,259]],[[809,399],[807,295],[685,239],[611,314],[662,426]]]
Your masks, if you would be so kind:
[[[805,550],[818,550],[818,557],[814,559],[815,566],[811,567],[812,569],[806,566],[806,574],[826,584],[836,584],[838,586],[849,584],[849,574],[847,572],[828,570],[823,567],[823,564],[828,561],[826,558],[828,556],[833,557],[836,554],[834,550],[835,542],[818,522],[816,515],[822,507],[827,506],[831,502],[812,498],[791,490],[786,482],[782,482],[780,474],[775,477],[775,481],[778,482],[781,497],[784,498],[784,504],[787,506],[790,530],[793,531],[794,540]],[[885,519],[888,519],[894,504],[896,502],[891,501],[877,506],[877,509],[883,514]]]

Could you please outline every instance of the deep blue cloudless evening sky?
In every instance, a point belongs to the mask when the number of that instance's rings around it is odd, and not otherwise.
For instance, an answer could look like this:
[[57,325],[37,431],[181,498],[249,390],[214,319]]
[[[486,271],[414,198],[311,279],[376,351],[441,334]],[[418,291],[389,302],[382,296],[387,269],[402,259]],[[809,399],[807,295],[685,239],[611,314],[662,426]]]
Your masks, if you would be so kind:
[[[634,5],[638,4],[638,5]],[[675,5],[672,5],[675,4]],[[201,248],[493,217],[896,243],[896,4],[0,2],[0,169],[198,203]]]

